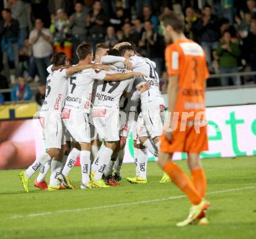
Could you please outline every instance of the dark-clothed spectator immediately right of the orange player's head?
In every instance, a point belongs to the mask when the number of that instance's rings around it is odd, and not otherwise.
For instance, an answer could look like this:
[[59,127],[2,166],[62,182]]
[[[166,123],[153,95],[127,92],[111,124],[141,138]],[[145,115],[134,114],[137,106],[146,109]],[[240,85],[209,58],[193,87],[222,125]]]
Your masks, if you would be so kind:
[[198,34],[198,19],[195,15],[194,9],[189,6],[186,8],[186,17],[185,17],[185,35],[187,38],[200,42]]

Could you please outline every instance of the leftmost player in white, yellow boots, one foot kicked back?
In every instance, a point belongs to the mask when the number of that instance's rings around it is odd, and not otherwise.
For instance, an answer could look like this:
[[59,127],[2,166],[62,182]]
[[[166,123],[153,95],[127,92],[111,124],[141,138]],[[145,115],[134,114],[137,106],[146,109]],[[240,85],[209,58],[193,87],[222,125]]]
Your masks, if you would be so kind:
[[[55,67],[68,65],[69,61],[62,52],[56,52],[51,59],[51,64]],[[91,67],[91,66],[89,66]],[[72,75],[77,71],[88,68],[88,65],[78,65],[67,69],[59,69],[51,74],[47,78],[47,93],[45,95],[44,104],[40,111],[40,123],[45,138],[45,148],[47,151],[37,157],[34,163],[29,166],[26,171],[19,173],[19,178],[22,180],[22,186],[24,190],[29,192],[30,178],[34,173],[41,168],[49,160],[51,162],[51,179],[48,186],[48,190],[59,190],[60,185],[57,179],[59,172],[61,171],[62,160],[62,120],[61,111],[65,102],[67,92],[67,75]]]

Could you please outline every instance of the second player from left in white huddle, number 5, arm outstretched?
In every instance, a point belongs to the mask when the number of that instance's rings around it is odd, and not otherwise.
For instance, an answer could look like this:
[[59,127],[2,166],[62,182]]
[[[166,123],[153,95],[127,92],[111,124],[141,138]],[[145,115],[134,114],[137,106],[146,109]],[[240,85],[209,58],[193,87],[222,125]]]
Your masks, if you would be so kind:
[[[76,50],[79,63],[77,66],[90,64],[93,60],[93,46],[86,42],[81,43]],[[96,65],[97,66],[97,65]],[[76,142],[80,144],[80,164],[82,183],[81,189],[90,189],[90,168],[91,168],[91,130],[89,114],[91,108],[93,84],[95,80],[111,81],[110,84],[118,85],[120,81],[129,79],[140,73],[117,73],[106,74],[106,71],[97,71],[93,68],[79,71],[69,78],[69,88],[65,101],[65,107],[62,110],[63,123],[67,131]],[[59,180],[65,186],[69,187],[65,175],[59,175]],[[95,186],[95,185],[94,185]]]

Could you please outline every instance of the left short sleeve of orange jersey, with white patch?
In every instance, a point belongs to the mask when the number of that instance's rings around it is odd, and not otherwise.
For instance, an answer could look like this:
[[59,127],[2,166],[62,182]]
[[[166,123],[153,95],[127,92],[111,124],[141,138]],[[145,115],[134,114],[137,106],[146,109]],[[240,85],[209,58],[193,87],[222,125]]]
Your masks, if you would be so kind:
[[181,50],[176,44],[171,44],[165,49],[165,64],[168,75],[177,75],[180,71],[179,61]]

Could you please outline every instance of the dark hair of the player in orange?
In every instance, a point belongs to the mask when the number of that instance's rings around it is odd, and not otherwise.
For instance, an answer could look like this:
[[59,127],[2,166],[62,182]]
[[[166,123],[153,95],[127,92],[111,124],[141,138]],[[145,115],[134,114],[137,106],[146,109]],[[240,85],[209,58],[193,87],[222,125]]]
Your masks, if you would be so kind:
[[176,14],[174,12],[162,15],[161,19],[163,22],[163,26],[172,26],[173,30],[177,33],[183,32],[184,29],[184,19],[182,19],[182,15]]

